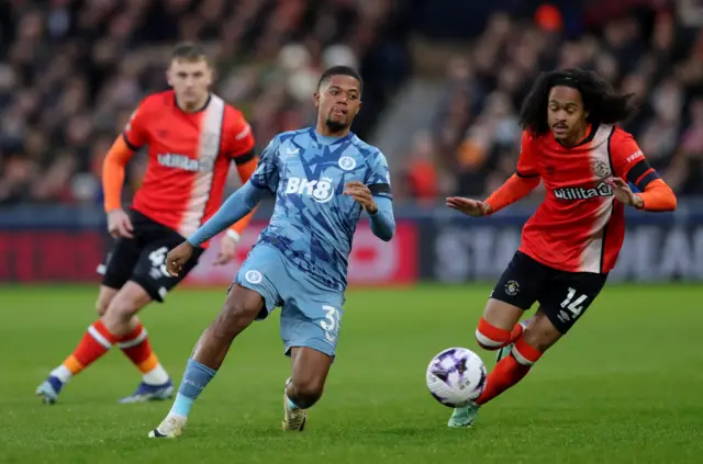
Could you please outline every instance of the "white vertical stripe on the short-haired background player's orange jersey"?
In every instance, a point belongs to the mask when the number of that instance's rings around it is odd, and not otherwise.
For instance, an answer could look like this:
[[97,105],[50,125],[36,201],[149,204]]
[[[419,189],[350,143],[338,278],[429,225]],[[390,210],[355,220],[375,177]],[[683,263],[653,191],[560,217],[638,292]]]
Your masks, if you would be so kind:
[[[212,94],[208,109],[201,120],[200,143],[198,147],[198,159],[201,161],[201,166],[209,166],[210,169],[196,173],[190,201],[178,227],[178,233],[183,237],[190,237],[198,230],[205,214],[205,205],[208,204],[210,190],[212,189],[215,161],[220,154],[220,145],[222,143],[224,109],[224,101],[220,97]],[[202,161],[207,162],[203,163]]]

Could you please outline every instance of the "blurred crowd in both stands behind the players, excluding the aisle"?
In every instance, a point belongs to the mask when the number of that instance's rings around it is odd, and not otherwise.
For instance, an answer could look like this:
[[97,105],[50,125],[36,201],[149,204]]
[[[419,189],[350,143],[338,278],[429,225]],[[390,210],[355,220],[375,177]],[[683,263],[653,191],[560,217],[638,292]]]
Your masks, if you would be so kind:
[[[102,159],[143,95],[165,88],[167,52],[179,39],[215,44],[215,92],[247,115],[259,149],[274,134],[311,123],[310,94],[331,64],[360,68],[365,111],[355,132],[367,136],[410,72],[403,41],[411,3],[2,2],[0,204],[99,204]],[[579,66],[636,93],[641,111],[625,128],[679,194],[702,194],[700,18],[682,12],[685,0],[647,3],[576,35],[557,8],[538,9],[526,21],[493,14],[448,63],[446,94],[431,110],[433,125],[402,154],[395,191],[434,202],[494,189],[514,170],[517,111],[535,76]],[[143,160],[131,169],[134,190]]]

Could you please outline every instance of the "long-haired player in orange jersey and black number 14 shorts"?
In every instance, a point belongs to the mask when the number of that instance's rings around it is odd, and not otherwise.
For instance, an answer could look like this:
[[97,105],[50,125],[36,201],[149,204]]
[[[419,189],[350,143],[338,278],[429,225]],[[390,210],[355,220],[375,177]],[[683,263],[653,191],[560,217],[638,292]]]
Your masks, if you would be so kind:
[[[582,317],[617,261],[625,206],[676,210],[671,189],[615,125],[633,113],[629,97],[591,71],[544,73],[522,107],[516,173],[483,202],[447,199],[449,207],[479,217],[521,200],[540,180],[546,189],[476,330],[479,346],[499,350],[499,362],[476,404],[455,409],[449,427],[471,426],[481,405],[520,382]],[[535,315],[518,324],[535,302]]]

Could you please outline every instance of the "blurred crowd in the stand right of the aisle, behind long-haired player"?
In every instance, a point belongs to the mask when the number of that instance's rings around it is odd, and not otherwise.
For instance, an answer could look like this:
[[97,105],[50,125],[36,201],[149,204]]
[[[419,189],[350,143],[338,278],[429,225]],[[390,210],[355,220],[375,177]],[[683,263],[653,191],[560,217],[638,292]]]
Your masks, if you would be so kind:
[[679,194],[703,194],[703,30],[663,7],[571,41],[561,39],[554,9],[528,22],[493,15],[468,53],[448,64],[433,127],[409,157],[410,194],[486,195],[499,186],[515,169],[523,98],[539,70],[567,67],[593,69],[635,93],[640,111],[625,129]]

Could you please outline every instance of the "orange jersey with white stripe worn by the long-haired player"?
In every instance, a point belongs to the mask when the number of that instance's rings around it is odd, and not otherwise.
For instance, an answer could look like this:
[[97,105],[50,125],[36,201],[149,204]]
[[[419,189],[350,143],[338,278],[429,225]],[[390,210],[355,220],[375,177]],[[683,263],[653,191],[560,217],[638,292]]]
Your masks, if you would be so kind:
[[524,133],[517,176],[540,177],[546,197],[525,224],[520,250],[562,271],[611,271],[625,237],[625,212],[606,181],[633,174],[638,182],[654,180],[656,172],[643,161],[632,135],[613,125],[591,127],[574,147],[551,133]]

